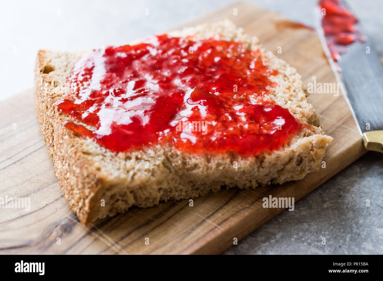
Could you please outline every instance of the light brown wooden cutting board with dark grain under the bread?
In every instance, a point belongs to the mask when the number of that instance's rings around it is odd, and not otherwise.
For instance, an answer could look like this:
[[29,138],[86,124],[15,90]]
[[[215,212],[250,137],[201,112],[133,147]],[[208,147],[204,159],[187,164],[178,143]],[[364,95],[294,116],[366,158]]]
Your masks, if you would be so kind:
[[[188,25],[224,18],[257,35],[275,54],[281,47],[278,57],[297,68],[304,83],[336,82],[316,33],[275,13],[235,3]],[[324,158],[325,169],[283,185],[209,193],[196,198],[192,207],[183,200],[132,208],[89,227],[78,222],[63,196],[35,117],[33,89],[2,101],[0,197],[30,198],[31,208],[0,209],[0,253],[221,253],[235,238],[283,211],[263,208],[262,198],[272,195],[297,201],[366,152],[342,94],[311,94],[310,101],[321,115],[322,127],[334,137]]]

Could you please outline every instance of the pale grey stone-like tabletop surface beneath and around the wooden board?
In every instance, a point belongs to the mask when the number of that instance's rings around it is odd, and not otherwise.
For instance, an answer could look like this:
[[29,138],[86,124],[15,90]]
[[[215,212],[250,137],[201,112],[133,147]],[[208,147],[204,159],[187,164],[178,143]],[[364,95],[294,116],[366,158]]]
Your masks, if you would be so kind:
[[[118,45],[165,32],[230,0],[2,1],[0,100],[33,87],[38,49]],[[316,0],[248,2],[313,26]],[[348,0],[383,57],[383,1]],[[149,9],[149,15],[145,15]],[[224,254],[383,254],[383,155],[367,153]],[[366,206],[370,200],[370,206]],[[322,237],[326,245],[322,245]]]

